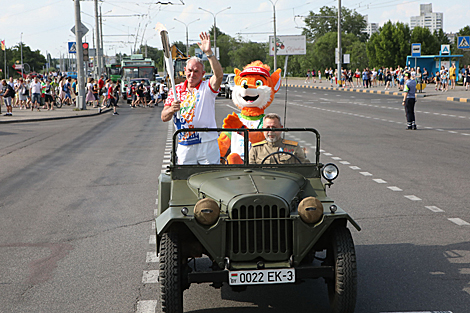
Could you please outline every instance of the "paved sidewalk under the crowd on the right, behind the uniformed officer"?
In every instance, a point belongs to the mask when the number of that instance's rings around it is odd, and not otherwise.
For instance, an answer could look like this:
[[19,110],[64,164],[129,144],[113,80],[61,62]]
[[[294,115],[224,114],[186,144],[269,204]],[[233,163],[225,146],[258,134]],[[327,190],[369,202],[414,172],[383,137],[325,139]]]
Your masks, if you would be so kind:
[[[393,96],[402,96],[403,92],[399,91],[397,87],[390,87],[390,90],[384,90],[383,86],[380,87],[372,87],[372,88],[341,88],[335,84],[331,87],[330,82],[326,82],[322,79],[320,83],[318,79],[316,79],[316,83],[313,83],[311,80],[310,83],[305,83],[305,78],[299,77],[288,77],[283,79],[282,86],[288,87],[299,87],[299,88],[315,88],[315,89],[328,89],[328,90],[340,90],[340,91],[348,91],[348,92],[363,92],[363,93],[375,93],[375,94],[383,94],[383,95],[393,95]],[[458,102],[466,102],[470,104],[470,90],[465,91],[465,87],[463,86],[455,86],[455,89],[449,89],[447,92],[436,91],[434,89],[434,84],[427,85],[423,92],[417,92],[417,97],[431,97],[430,99],[436,99],[439,101],[458,101]]]

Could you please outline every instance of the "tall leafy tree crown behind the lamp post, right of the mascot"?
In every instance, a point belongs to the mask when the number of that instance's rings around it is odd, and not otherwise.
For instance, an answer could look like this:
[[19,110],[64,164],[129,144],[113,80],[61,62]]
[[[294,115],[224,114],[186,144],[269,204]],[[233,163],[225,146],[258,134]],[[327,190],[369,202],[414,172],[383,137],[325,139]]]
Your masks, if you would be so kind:
[[[322,17],[331,16],[331,17]],[[305,18],[306,27],[304,27],[302,34],[307,36],[310,41],[315,41],[321,36],[330,33],[338,32],[338,8],[324,6],[320,8],[319,13],[310,11]],[[367,27],[367,22],[363,15],[341,7],[341,32],[346,34],[356,35],[360,41],[365,42],[368,38],[366,33],[362,30]]]

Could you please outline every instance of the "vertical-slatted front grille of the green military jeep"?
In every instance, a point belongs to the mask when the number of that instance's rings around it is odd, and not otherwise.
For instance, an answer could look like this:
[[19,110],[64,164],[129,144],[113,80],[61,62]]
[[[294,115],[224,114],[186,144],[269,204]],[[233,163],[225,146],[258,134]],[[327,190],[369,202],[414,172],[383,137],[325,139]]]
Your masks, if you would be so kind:
[[227,247],[233,261],[261,257],[266,261],[287,260],[292,251],[292,221],[289,211],[278,205],[233,207],[227,222]]

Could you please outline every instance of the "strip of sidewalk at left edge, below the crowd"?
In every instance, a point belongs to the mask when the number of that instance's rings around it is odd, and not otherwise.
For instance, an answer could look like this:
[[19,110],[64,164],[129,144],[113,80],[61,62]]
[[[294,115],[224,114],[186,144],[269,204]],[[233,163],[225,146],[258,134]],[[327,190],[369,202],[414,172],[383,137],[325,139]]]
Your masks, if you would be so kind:
[[[47,109],[41,109],[41,111],[34,110],[20,110],[19,108],[13,108],[12,116],[5,116],[7,112],[6,106],[2,104],[1,106],[2,114],[0,115],[0,124],[7,123],[25,123],[25,122],[37,122],[37,121],[50,121],[50,120],[59,120],[65,118],[78,118],[86,117],[100,114],[98,108],[93,108],[87,106],[86,110],[74,111],[74,106],[64,105],[62,108],[54,108],[52,111],[47,111]],[[105,109],[101,114],[110,111],[111,109]]]

